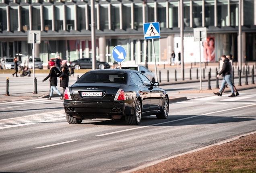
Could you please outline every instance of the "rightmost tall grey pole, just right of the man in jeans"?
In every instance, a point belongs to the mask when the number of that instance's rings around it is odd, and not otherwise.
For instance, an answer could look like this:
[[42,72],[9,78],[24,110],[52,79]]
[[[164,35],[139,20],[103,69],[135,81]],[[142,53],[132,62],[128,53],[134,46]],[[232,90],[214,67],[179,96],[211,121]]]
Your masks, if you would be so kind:
[[242,0],[238,0],[238,62],[242,69]]

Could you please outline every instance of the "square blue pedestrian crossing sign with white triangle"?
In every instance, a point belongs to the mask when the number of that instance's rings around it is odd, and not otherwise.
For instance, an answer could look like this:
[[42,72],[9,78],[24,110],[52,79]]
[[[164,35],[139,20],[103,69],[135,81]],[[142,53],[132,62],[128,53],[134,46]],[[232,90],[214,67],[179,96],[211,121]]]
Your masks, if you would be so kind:
[[143,31],[145,39],[160,38],[159,22],[144,23]]

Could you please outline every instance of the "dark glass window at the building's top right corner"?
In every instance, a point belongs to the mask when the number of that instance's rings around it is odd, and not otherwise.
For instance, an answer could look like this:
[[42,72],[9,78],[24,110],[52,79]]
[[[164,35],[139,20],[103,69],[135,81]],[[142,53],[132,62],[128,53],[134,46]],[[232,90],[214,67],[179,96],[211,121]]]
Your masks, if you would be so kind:
[[[254,0],[244,0],[244,25],[254,25]],[[250,16],[250,17],[249,17]]]

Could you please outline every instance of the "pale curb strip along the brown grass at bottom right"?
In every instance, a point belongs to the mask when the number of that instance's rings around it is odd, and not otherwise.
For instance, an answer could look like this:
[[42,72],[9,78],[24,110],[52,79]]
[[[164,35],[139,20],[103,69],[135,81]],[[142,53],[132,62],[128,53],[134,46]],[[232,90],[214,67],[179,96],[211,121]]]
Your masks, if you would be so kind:
[[190,150],[190,151],[187,151],[187,152],[178,154],[178,155],[173,155],[173,156],[170,156],[170,157],[167,157],[167,158],[164,158],[164,159],[160,159],[160,160],[157,160],[157,161],[153,161],[153,162],[150,162],[150,163],[146,163],[146,164],[141,165],[141,166],[139,166],[139,167],[136,167],[136,168],[133,168],[133,169],[130,169],[130,170],[127,170],[127,171],[122,171],[122,172],[120,172],[120,173],[131,173],[131,172],[134,172],[134,171],[138,171],[138,170],[140,170],[140,169],[144,169],[144,168],[150,167],[150,166],[152,166],[152,165],[156,165],[156,164],[158,164],[158,163],[161,163],[161,162],[163,162],[163,161],[167,161],[167,160],[169,160],[169,159],[173,159],[173,158],[175,158],[175,157],[179,157],[179,156],[182,156],[182,155],[194,153],[194,152],[197,152],[197,151],[206,149],[206,148],[213,147],[213,146],[215,146],[215,145],[221,145],[221,144],[229,143],[229,142],[235,141],[235,140],[237,140],[237,139],[240,139],[240,138],[242,138],[242,137],[249,136],[249,135],[253,135],[254,133],[256,133],[256,131],[251,132],[251,133],[246,133],[246,134],[244,134],[244,135],[239,135],[239,136],[236,136],[236,137],[233,137],[233,138],[230,138],[230,139],[225,139],[225,140],[223,140],[223,141],[220,141],[220,142],[217,142],[217,143],[213,143],[213,144],[208,145],[208,146],[205,146],[205,147],[200,147],[200,148],[198,148],[198,149]]

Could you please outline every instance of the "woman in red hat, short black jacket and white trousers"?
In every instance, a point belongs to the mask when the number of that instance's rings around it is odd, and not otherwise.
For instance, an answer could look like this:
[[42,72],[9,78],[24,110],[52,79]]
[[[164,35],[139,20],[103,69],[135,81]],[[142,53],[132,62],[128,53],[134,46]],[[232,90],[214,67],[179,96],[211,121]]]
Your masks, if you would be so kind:
[[55,62],[50,62],[50,73],[49,75],[43,79],[43,81],[47,80],[48,78],[50,78],[50,85],[51,85],[51,89],[50,89],[50,97],[47,98],[47,100],[52,100],[52,94],[53,91],[55,91],[59,96],[60,96],[60,100],[63,99],[63,95],[60,93],[60,91],[56,88],[57,86],[57,77],[60,76],[61,72],[58,70],[58,68],[56,68],[55,66]]

